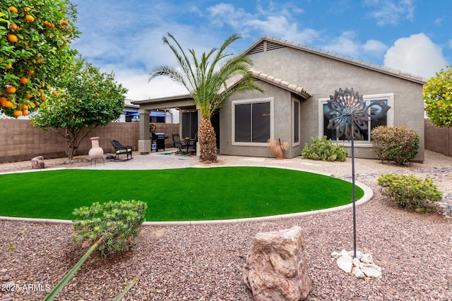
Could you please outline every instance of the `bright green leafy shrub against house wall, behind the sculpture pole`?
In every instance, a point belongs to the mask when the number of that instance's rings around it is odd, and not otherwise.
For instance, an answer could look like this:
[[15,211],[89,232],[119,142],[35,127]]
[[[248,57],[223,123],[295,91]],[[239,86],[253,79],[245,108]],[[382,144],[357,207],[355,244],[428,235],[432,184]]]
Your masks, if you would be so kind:
[[345,161],[347,154],[343,145],[333,145],[331,139],[326,140],[326,136],[311,137],[311,147],[305,143],[302,150],[303,158],[321,161]]

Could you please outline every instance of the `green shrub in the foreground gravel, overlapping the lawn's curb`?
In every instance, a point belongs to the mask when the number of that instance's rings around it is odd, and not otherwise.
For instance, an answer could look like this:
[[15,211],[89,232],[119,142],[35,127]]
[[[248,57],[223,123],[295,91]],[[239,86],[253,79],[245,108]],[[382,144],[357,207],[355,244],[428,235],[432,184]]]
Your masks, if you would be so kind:
[[81,220],[74,221],[73,229],[76,242],[93,244],[99,238],[104,239],[97,246],[103,256],[114,252],[126,252],[133,240],[141,231],[147,204],[140,201],[124,201],[81,207],[73,210],[73,214]]

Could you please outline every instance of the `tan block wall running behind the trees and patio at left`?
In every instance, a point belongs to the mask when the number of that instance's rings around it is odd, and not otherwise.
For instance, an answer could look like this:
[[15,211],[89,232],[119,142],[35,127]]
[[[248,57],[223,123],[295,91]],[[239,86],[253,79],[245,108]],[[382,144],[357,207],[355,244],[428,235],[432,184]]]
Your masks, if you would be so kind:
[[[64,133],[64,130],[61,130]],[[158,123],[157,132],[165,133],[165,148],[172,147],[172,134],[179,133],[179,123]],[[85,133],[85,132],[83,132]],[[114,153],[110,140],[115,139],[123,145],[131,145],[138,150],[139,123],[109,123],[92,130],[81,145],[76,149],[74,156],[87,155],[91,148],[90,137],[100,137],[99,146],[104,154]],[[47,131],[35,128],[29,120],[0,119],[0,164],[30,160],[35,156],[44,156],[44,159],[61,158],[66,156],[68,143],[54,130]]]

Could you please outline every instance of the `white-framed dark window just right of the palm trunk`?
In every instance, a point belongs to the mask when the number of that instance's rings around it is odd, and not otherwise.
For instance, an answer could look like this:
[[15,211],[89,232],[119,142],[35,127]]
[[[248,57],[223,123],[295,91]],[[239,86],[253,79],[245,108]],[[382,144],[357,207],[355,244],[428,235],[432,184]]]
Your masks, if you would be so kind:
[[235,145],[265,144],[270,139],[272,104],[271,99],[232,102]]

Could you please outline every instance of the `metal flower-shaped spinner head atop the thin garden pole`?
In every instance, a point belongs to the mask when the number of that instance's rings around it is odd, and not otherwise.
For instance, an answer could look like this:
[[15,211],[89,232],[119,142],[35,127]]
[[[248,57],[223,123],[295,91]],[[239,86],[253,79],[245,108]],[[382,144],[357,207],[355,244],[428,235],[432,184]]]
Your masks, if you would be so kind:
[[325,113],[326,118],[330,121],[328,129],[336,130],[336,137],[345,134],[345,139],[353,138],[362,139],[362,132],[368,130],[367,124],[370,120],[376,120],[386,115],[388,106],[386,102],[371,102],[367,105],[359,95],[352,89],[339,89],[334,92],[334,96],[330,95],[328,100],[328,111]]

